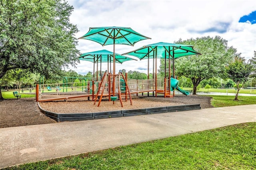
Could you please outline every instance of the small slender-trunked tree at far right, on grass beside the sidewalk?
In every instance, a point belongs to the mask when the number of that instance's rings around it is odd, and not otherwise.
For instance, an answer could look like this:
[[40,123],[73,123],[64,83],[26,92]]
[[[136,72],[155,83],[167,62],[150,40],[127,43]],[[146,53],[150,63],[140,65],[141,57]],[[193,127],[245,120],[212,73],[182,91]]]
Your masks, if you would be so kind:
[[[244,86],[244,83],[248,81],[250,73],[252,73],[252,64],[242,57],[235,57],[235,60],[228,64],[226,67],[228,77],[236,83],[236,96],[234,100],[238,100],[239,90]],[[242,84],[239,86],[239,84]]]

